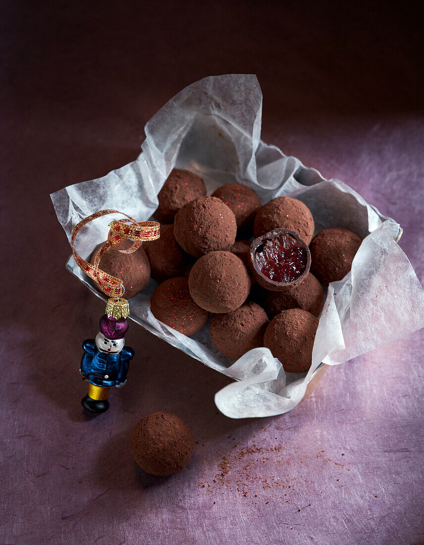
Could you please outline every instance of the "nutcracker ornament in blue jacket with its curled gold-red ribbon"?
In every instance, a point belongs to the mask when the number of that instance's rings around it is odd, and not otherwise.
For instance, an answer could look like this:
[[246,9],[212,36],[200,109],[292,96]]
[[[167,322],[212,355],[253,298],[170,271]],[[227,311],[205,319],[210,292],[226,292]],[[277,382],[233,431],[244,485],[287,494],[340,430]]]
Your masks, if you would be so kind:
[[114,220],[110,223],[110,231],[106,242],[96,253],[93,265],[84,261],[75,250],[77,233],[89,221],[106,214],[119,213],[117,210],[100,210],[80,221],[72,231],[71,244],[75,262],[88,276],[95,280],[102,292],[109,295],[106,312],[100,318],[100,331],[95,339],[87,339],[82,343],[84,354],[81,359],[80,373],[83,380],[88,381],[88,394],[82,398],[84,409],[92,413],[104,413],[109,408],[108,395],[112,387],[125,386],[126,374],[130,360],[134,358],[134,350],[125,346],[124,335],[128,330],[126,317],[130,313],[129,304],[123,298],[125,287],[120,278],[116,278],[99,269],[102,255],[121,240],[133,239],[134,244],[122,253],[135,252],[142,241],[159,238],[159,223],[144,221],[137,223],[131,216],[127,219]]

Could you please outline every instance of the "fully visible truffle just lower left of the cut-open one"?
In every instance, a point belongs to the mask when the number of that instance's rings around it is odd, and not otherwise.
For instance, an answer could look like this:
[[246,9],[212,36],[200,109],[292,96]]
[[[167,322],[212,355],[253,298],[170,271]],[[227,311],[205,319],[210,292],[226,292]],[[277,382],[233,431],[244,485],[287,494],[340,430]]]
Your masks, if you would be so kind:
[[210,252],[193,265],[189,288],[193,300],[205,310],[231,312],[243,305],[249,295],[249,273],[233,253]]

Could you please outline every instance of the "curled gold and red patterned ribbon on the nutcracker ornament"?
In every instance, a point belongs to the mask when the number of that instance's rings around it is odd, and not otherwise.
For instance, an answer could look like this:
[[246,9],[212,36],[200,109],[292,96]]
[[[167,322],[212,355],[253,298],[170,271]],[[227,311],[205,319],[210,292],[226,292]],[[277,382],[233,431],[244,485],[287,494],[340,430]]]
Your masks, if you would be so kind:
[[[94,258],[94,263],[91,265],[87,263],[82,257],[77,253],[74,247],[75,238],[78,232],[81,230],[84,225],[93,221],[101,216],[106,216],[107,214],[122,214],[126,216],[122,220],[113,220],[109,223],[110,231],[107,235],[107,240],[100,246],[99,251],[96,252]],[[105,271],[99,269],[99,263],[105,252],[111,249],[111,247],[118,244],[121,240],[134,239],[134,244],[128,250],[118,250],[121,253],[132,253],[138,250],[140,244],[146,240],[156,240],[160,237],[160,225],[156,221],[142,221],[137,223],[136,220],[119,212],[118,210],[99,210],[95,214],[87,216],[80,223],[74,227],[71,236],[72,244],[72,253],[74,254],[74,259],[78,267],[80,267],[86,275],[90,278],[93,278],[100,286],[102,292],[110,297],[119,297],[123,292],[123,283],[120,278],[116,278],[108,274]]]

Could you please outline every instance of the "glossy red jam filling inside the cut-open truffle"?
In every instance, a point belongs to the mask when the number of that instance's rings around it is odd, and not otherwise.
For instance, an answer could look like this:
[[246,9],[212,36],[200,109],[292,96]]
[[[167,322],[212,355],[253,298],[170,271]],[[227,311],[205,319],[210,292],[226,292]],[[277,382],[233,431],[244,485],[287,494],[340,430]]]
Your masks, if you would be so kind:
[[281,234],[256,249],[255,260],[264,276],[274,282],[293,282],[306,268],[305,246],[292,235]]

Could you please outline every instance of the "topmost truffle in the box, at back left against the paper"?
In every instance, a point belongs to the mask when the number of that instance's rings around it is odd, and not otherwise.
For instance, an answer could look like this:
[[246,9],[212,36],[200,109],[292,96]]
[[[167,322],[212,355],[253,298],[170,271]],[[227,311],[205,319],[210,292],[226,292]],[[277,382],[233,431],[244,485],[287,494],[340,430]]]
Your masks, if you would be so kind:
[[192,172],[174,168],[159,191],[159,206],[154,218],[161,223],[172,223],[184,204],[206,195],[202,178]]

